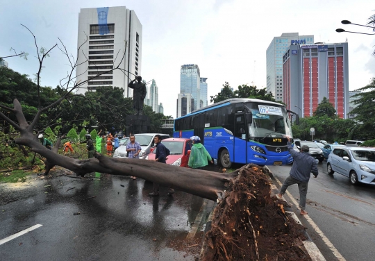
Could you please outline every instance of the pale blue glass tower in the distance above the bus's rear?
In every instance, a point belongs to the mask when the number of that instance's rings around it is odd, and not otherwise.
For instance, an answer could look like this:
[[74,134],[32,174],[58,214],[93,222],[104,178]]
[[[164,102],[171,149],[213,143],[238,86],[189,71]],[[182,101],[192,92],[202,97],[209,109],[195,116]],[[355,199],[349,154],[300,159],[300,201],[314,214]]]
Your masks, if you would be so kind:
[[[181,78],[180,78],[180,94],[190,94],[191,106],[188,106],[186,115],[193,110],[200,108],[201,100],[201,72],[199,71],[198,65],[182,65],[181,66]],[[182,106],[182,103],[178,103]],[[185,110],[177,108],[177,111],[184,112]],[[181,117],[183,115],[177,116]]]

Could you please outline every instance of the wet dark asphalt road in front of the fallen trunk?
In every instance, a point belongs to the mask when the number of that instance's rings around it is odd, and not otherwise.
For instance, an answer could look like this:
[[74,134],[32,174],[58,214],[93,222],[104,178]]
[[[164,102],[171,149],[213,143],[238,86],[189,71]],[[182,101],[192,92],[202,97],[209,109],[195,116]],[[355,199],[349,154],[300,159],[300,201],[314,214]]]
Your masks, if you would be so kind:
[[[152,183],[140,179],[56,175],[0,185],[0,260],[194,260],[199,255],[213,201],[183,192],[167,196],[165,187],[159,197],[149,197]],[[1,242],[37,224],[42,226]]]

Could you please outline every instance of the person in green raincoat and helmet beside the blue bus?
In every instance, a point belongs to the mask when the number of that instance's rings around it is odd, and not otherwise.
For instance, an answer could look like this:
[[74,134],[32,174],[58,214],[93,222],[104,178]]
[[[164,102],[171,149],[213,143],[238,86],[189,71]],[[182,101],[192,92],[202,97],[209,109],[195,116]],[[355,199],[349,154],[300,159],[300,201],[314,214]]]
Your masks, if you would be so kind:
[[192,169],[202,169],[208,165],[209,161],[213,163],[210,153],[208,153],[203,144],[201,144],[201,138],[192,136],[190,140],[192,140],[193,146],[190,152],[188,166]]

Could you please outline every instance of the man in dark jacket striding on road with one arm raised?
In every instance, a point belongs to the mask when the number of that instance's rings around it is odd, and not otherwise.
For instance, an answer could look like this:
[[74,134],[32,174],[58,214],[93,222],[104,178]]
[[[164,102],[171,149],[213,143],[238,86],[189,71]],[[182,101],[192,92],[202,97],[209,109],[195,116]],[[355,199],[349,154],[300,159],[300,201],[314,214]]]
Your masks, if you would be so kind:
[[288,178],[284,181],[283,187],[281,187],[280,193],[277,196],[281,198],[290,185],[297,183],[299,189],[299,208],[301,209],[300,214],[308,214],[305,211],[308,180],[310,180],[310,173],[314,174],[314,178],[318,176],[317,162],[315,158],[308,154],[308,146],[301,146],[301,152],[294,151],[290,138],[286,138],[288,139],[288,151],[293,157],[293,165]]

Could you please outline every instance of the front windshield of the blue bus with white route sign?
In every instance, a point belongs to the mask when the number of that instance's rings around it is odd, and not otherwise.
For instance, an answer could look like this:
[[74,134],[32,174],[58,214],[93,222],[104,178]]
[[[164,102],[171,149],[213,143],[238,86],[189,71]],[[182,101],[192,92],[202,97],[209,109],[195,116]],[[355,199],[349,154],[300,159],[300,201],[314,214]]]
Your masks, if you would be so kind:
[[269,106],[260,103],[247,103],[251,109],[252,123],[249,124],[250,139],[254,137],[292,137],[292,126],[283,106]]

